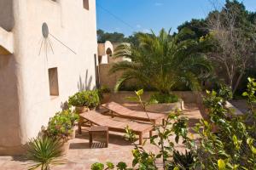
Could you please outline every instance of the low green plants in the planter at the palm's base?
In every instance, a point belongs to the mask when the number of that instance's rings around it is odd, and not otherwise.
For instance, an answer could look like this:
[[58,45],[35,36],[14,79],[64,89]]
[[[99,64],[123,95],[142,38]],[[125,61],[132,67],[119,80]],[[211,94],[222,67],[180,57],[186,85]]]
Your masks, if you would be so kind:
[[150,100],[154,100],[159,104],[166,104],[166,103],[175,103],[178,101],[178,97],[176,94],[153,94]]

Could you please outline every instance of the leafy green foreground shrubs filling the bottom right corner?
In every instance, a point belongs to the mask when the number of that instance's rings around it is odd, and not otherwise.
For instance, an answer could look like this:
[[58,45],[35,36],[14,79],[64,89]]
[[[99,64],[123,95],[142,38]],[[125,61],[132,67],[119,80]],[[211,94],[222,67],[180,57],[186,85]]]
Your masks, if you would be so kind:
[[[244,116],[236,116],[228,110],[226,97],[215,91],[207,91],[204,98],[208,118],[201,119],[193,128],[199,140],[189,133],[187,119],[172,113],[164,125],[152,125],[156,135],[150,138],[150,144],[159,148],[158,153],[144,150],[135,143],[136,135],[126,127],[125,138],[130,139],[135,148],[132,150],[132,168],[138,170],[156,170],[155,160],[161,159],[161,168],[178,169],[218,169],[218,170],[251,170],[256,169],[256,119],[254,102],[256,101],[256,81],[248,78],[247,96],[248,112]],[[143,90],[136,92],[137,100],[145,111],[148,102],[141,99]],[[224,93],[225,94],[225,93]],[[147,112],[145,111],[147,115]],[[214,127],[218,132],[212,132]],[[173,142],[170,138],[175,136]],[[190,138],[191,136],[191,138]],[[187,152],[181,154],[175,149],[175,144],[182,142]],[[145,144],[145,143],[144,143]],[[172,159],[173,158],[173,159]],[[126,164],[125,164],[126,165]],[[127,167],[125,170],[129,169]]]

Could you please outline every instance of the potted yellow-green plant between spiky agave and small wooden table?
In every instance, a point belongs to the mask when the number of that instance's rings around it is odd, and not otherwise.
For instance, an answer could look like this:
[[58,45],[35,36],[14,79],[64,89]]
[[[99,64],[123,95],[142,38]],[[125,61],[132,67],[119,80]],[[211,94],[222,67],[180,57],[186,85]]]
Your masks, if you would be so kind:
[[50,118],[45,134],[48,137],[59,139],[62,143],[62,150],[67,154],[69,139],[75,137],[75,125],[79,115],[75,111],[60,111]]

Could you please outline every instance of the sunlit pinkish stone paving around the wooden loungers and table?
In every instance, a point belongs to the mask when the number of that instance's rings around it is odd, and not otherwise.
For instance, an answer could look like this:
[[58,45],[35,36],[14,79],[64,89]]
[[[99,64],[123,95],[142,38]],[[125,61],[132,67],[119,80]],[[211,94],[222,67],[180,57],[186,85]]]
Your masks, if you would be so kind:
[[[126,105],[135,107],[134,105]],[[186,105],[186,110],[183,111],[184,116],[189,117],[189,126],[194,125],[201,119],[201,113],[195,105]],[[106,162],[125,161],[131,165],[132,155],[131,150],[133,145],[125,141],[124,133],[109,134],[108,148],[89,148],[89,135],[87,128],[83,128],[82,134],[76,134],[76,139],[71,140],[70,148],[67,154],[67,163],[65,165],[53,167],[53,170],[90,170],[90,165],[96,161]],[[143,138],[148,139],[149,134],[146,133]],[[174,140],[174,138],[173,138]],[[137,141],[138,143],[138,141]],[[94,144],[97,146],[97,144]],[[144,148],[156,152],[158,149],[146,142]],[[182,144],[178,144],[179,150],[184,150]],[[0,170],[24,170],[27,169],[27,162],[23,161],[22,156],[0,156]]]

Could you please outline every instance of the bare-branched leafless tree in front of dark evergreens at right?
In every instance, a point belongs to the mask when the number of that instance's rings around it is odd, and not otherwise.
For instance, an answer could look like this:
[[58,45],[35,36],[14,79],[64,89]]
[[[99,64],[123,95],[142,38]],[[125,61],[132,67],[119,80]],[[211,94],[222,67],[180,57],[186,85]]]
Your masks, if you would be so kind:
[[211,31],[208,37],[212,37],[212,45],[215,47],[209,57],[222,67],[222,75],[227,78],[233,94],[255,57],[256,25],[253,20],[253,14],[236,0],[227,0],[224,8],[212,11],[207,17]]

